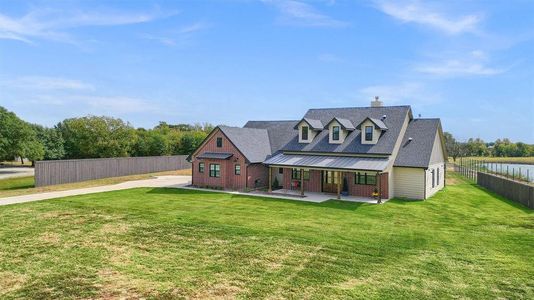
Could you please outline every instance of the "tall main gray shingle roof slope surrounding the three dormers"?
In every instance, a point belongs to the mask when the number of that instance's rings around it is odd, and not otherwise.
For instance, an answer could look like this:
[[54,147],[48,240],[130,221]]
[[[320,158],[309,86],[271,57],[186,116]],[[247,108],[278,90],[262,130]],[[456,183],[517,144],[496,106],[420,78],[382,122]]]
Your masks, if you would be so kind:
[[309,144],[298,142],[298,133],[281,150],[305,151],[305,152],[334,152],[334,153],[360,153],[360,154],[391,154],[395,147],[402,124],[407,115],[411,117],[410,106],[383,106],[383,107],[347,107],[310,109],[305,118],[320,120],[327,124],[334,117],[347,119],[352,124],[360,124],[366,118],[380,119],[387,115],[384,125],[389,128],[384,131],[378,142],[374,145],[364,145],[361,141],[361,131],[354,130],[348,134],[342,144],[330,144],[328,142],[328,130],[320,132]]

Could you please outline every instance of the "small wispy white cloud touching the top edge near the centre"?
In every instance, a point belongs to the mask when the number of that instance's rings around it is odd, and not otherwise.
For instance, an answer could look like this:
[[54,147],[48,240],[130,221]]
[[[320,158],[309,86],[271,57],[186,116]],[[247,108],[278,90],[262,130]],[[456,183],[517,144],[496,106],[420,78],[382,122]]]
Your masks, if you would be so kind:
[[320,13],[313,6],[293,0],[266,0],[280,12],[279,22],[308,27],[345,27],[348,23]]

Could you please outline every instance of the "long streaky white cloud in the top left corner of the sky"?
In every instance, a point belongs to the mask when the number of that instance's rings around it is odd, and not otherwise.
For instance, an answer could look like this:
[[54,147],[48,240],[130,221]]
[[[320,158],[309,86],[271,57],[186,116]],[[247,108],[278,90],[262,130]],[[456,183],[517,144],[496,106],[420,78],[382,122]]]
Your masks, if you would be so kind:
[[117,26],[151,22],[176,12],[125,13],[34,9],[16,18],[0,14],[0,39],[33,43],[35,39],[72,42],[68,29],[87,26]]

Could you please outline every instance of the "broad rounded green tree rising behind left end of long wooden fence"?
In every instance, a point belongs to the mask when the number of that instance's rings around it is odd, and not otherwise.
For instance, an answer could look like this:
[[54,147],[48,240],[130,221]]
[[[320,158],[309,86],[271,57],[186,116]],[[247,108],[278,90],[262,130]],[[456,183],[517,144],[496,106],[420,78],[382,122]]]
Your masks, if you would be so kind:
[[67,158],[129,156],[135,129],[121,119],[87,116],[66,119],[57,125]]

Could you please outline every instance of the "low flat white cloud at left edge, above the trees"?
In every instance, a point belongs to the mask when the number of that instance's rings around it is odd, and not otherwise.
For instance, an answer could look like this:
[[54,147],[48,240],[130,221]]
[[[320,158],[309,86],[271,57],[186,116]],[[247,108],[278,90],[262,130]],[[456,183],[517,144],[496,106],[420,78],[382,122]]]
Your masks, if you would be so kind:
[[93,90],[94,87],[88,83],[59,78],[43,76],[25,76],[15,79],[1,80],[0,85],[24,90]]

